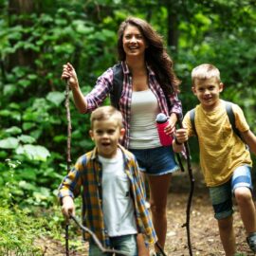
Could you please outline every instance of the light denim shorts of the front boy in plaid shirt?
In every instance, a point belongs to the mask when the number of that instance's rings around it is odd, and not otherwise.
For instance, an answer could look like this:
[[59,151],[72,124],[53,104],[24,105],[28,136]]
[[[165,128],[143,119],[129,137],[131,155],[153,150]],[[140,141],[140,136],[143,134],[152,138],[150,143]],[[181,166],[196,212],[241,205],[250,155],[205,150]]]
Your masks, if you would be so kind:
[[[137,256],[137,234],[121,235],[117,237],[110,237],[110,246],[116,250],[126,252],[129,256]],[[95,243],[90,243],[89,247],[90,256],[108,256],[112,253],[103,253]]]

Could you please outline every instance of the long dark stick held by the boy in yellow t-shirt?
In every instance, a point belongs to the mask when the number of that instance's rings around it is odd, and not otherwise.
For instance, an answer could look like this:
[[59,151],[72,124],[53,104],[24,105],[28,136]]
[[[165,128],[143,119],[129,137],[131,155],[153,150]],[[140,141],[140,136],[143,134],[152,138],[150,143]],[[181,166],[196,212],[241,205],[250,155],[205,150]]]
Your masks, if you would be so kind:
[[[181,119],[178,119],[179,126],[183,128]],[[191,189],[190,194],[187,202],[187,210],[186,210],[186,223],[182,225],[182,228],[186,227],[187,230],[187,239],[188,239],[188,247],[190,256],[192,256],[192,242],[191,242],[191,229],[190,229],[190,222],[191,222],[191,207],[192,207],[192,194],[194,189],[194,178],[192,175],[192,164],[191,164],[191,153],[190,153],[190,147],[188,141],[184,143],[185,145],[185,151],[187,156],[187,167],[188,172],[190,176],[190,182],[191,182]]]

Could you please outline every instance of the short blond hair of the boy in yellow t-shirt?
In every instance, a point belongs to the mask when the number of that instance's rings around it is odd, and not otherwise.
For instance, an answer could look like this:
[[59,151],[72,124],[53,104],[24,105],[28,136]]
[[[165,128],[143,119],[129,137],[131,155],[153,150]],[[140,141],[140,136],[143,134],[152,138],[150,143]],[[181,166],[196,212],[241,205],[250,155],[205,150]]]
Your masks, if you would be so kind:
[[192,69],[192,86],[196,79],[206,80],[210,78],[216,78],[218,82],[221,82],[220,71],[213,64],[200,64]]

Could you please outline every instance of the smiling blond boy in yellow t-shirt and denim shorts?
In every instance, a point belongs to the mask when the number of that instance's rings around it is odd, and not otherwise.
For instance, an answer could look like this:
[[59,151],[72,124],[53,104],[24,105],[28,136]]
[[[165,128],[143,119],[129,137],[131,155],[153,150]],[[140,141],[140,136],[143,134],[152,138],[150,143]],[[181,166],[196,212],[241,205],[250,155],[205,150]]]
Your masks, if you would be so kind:
[[[251,158],[245,143],[229,122],[225,101],[219,96],[223,83],[219,70],[212,64],[201,64],[192,70],[192,92],[200,101],[195,107],[194,126],[200,148],[200,164],[210,200],[218,221],[222,245],[227,256],[235,254],[232,219],[232,194],[247,231],[247,244],[256,252],[256,210],[252,199]],[[256,154],[256,137],[249,130],[242,109],[232,104],[235,126]],[[183,143],[195,135],[188,112],[183,119],[184,129],[175,133],[174,151],[180,152]]]

